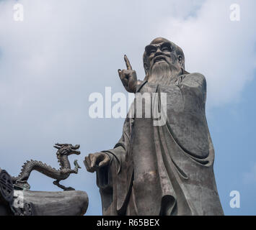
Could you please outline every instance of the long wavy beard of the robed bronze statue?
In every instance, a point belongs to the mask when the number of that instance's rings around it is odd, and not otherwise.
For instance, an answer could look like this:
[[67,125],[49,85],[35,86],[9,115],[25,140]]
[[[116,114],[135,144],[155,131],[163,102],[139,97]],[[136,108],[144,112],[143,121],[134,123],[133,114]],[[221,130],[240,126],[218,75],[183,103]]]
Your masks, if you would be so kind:
[[154,63],[149,70],[148,82],[169,86],[180,73],[180,68],[175,65],[167,62]]

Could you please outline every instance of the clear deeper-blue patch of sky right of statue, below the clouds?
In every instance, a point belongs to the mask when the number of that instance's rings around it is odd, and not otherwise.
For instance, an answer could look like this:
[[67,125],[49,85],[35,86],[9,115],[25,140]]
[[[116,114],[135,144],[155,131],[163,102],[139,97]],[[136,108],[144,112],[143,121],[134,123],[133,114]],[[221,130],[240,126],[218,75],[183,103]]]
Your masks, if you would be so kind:
[[[252,80],[241,101],[215,109],[208,126],[216,151],[215,175],[226,215],[255,215],[255,89]],[[230,208],[229,192],[238,190],[241,208]]]

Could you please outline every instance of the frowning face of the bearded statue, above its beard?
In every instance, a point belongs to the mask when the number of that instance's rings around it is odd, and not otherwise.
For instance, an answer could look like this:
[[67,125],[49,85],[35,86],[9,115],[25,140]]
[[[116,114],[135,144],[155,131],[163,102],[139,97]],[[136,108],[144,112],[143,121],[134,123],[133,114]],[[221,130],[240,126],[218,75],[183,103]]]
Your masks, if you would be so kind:
[[175,52],[175,46],[169,41],[160,41],[156,44],[150,44],[145,48],[146,55],[149,57],[150,68],[158,63],[168,63],[171,65],[179,65],[179,57]]

